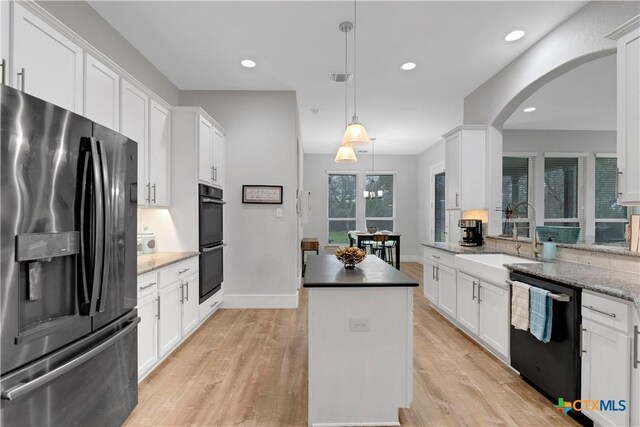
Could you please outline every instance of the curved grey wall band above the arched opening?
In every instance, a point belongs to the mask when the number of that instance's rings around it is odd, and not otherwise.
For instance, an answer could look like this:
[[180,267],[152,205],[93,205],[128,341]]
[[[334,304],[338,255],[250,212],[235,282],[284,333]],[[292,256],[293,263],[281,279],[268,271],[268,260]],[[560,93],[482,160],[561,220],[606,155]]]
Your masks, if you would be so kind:
[[611,53],[604,36],[640,13],[633,1],[593,1],[464,98],[465,124],[501,125],[546,82]]

